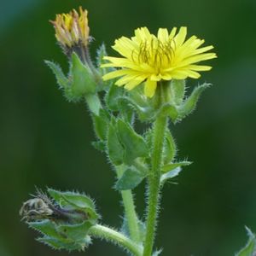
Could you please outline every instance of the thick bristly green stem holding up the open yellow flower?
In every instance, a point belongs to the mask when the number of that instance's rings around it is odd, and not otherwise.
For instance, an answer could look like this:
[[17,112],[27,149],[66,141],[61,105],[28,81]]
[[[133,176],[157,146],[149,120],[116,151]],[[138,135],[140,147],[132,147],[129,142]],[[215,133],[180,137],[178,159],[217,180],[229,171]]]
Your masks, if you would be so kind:
[[148,217],[143,256],[151,256],[154,246],[154,232],[156,229],[160,194],[160,167],[162,162],[166,125],[167,117],[159,116],[154,122],[154,141],[151,156],[152,167],[148,176]]

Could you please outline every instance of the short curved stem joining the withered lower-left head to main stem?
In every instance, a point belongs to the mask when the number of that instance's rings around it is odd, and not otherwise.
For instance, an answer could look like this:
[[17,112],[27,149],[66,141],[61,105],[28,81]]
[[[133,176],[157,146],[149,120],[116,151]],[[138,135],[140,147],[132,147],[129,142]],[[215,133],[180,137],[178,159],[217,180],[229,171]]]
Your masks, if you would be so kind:
[[106,241],[113,241],[113,243],[117,243],[121,247],[125,247],[135,256],[143,255],[143,247],[131,241],[130,238],[124,236],[118,231],[112,230],[106,226],[102,226],[100,224],[96,224],[92,226],[89,230],[90,236],[96,236]]

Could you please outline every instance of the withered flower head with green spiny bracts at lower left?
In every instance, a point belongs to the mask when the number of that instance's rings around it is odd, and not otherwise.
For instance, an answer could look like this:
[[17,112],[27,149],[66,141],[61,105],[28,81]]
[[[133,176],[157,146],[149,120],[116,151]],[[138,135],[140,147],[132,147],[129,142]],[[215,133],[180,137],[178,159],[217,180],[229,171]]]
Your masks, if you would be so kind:
[[22,219],[38,230],[38,241],[49,247],[67,251],[83,251],[90,245],[89,230],[99,215],[94,201],[84,194],[48,189],[48,195],[38,190],[20,209]]

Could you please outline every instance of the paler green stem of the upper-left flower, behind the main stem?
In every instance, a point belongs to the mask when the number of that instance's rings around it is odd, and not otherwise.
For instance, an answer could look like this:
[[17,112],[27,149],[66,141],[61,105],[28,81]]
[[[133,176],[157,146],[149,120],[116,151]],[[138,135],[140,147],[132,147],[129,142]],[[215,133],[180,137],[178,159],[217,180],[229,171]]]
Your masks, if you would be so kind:
[[[121,177],[124,173],[123,166],[116,166],[116,172],[117,176]],[[122,190],[121,195],[125,208],[125,218],[127,219],[131,239],[133,241],[140,241],[137,213],[131,190]]]

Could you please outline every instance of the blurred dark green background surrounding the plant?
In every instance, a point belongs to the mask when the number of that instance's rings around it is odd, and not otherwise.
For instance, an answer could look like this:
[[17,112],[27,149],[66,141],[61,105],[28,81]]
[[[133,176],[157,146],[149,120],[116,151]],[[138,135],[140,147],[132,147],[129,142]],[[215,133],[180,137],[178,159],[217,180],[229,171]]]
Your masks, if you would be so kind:
[[[122,207],[114,175],[94,138],[83,104],[68,103],[44,59],[66,57],[55,44],[50,19],[82,5],[90,32],[109,45],[134,28],[189,26],[206,38],[218,59],[200,82],[214,84],[196,112],[172,127],[179,157],[194,164],[163,191],[157,238],[163,256],[228,256],[247,240],[244,225],[256,232],[256,2],[255,0],[9,0],[0,9],[0,255],[124,255],[95,241],[85,253],[54,252],[20,222],[22,201],[44,189],[79,189],[96,199],[104,223],[121,224]],[[189,80],[191,86],[196,80]],[[144,190],[136,190],[143,215]]]

